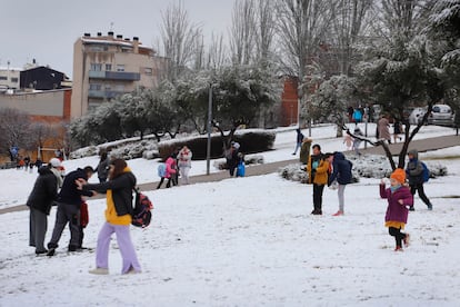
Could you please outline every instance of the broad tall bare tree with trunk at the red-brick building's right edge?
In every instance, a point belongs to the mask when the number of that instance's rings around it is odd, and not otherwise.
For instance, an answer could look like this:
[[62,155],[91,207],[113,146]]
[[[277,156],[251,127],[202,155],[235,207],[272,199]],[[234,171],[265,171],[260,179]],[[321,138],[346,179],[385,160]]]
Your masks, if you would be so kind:
[[[314,62],[330,22],[330,1],[277,1],[279,62],[284,72],[298,79],[299,111],[303,105],[302,82],[309,65]],[[300,120],[299,120],[300,126]]]

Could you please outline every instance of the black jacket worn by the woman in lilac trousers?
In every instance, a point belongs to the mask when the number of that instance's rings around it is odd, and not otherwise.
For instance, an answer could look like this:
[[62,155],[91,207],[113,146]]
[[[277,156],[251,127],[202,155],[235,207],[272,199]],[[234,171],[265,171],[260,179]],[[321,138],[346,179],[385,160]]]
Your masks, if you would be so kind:
[[128,171],[107,182],[84,185],[83,189],[87,191],[94,190],[102,194],[106,194],[107,190],[112,190],[117,215],[124,216],[129,214],[132,216],[132,189],[134,187],[136,177],[131,171]]

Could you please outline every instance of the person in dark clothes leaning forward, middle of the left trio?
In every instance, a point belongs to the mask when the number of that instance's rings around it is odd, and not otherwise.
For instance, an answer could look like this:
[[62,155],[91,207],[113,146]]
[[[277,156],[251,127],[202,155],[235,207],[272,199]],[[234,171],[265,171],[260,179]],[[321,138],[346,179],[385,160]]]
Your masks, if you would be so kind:
[[80,206],[82,196],[93,196],[92,191],[82,191],[78,189],[76,180],[88,180],[94,170],[87,166],[84,169],[78,168],[69,172],[62,184],[58,195],[58,210],[56,212],[54,229],[52,230],[51,240],[48,242],[47,256],[54,256],[58,248],[59,239],[67,224],[70,228],[70,242],[68,250],[76,251],[80,241]]

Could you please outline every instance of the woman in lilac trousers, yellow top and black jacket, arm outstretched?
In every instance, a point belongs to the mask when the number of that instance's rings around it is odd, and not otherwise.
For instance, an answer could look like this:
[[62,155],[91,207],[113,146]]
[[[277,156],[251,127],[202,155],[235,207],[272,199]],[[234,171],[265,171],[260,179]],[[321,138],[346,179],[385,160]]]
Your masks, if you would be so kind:
[[131,240],[130,225],[132,221],[132,190],[136,177],[123,159],[110,162],[109,181],[103,184],[87,184],[77,181],[80,189],[107,195],[106,222],[103,224],[96,247],[96,268],[90,274],[109,274],[109,247],[112,234],[117,236],[118,247],[122,258],[121,274],[141,273],[141,266]]

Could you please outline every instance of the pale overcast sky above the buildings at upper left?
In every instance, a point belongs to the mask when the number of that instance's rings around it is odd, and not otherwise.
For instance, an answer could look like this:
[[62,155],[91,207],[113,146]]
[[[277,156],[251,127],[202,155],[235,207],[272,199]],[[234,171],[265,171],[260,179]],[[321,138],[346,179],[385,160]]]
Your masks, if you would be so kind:
[[[89,32],[139,37],[157,46],[161,11],[174,0],[0,0],[0,67],[39,65],[72,76],[73,43]],[[206,39],[227,36],[234,0],[183,0],[189,19],[200,23]],[[112,26],[111,26],[112,24]]]

